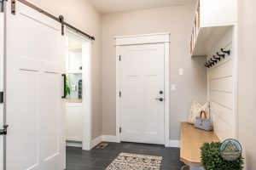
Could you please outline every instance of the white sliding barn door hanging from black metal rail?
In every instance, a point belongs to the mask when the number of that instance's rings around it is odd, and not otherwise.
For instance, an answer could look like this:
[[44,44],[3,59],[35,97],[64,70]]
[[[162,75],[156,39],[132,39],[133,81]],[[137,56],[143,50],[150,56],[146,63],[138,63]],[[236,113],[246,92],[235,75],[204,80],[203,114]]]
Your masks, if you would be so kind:
[[7,5],[7,170],[65,168],[65,37],[61,24],[16,1]]

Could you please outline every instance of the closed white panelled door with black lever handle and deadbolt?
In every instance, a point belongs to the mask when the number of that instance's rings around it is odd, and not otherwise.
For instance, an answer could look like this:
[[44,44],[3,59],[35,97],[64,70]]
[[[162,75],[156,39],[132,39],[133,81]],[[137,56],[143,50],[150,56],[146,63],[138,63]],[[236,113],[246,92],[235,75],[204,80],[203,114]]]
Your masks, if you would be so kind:
[[164,44],[120,48],[121,140],[165,144]]

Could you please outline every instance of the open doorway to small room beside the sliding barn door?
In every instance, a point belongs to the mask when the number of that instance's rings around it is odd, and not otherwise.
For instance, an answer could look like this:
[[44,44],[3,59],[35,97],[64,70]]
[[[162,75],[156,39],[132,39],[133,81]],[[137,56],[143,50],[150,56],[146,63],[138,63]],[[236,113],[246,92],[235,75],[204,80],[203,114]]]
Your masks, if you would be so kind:
[[66,142],[90,150],[90,40],[66,31]]

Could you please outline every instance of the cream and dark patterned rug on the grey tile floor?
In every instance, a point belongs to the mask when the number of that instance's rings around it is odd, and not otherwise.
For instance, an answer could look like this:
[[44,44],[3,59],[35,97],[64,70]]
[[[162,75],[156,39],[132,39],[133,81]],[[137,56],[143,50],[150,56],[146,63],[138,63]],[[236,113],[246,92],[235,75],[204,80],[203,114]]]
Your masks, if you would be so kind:
[[120,153],[106,170],[159,170],[162,159],[161,156]]

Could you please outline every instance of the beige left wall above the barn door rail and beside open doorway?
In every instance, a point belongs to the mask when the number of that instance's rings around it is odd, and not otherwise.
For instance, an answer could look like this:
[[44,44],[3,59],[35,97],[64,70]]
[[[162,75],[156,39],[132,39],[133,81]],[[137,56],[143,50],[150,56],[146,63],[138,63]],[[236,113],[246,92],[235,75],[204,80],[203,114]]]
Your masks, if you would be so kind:
[[85,0],[32,0],[55,16],[96,37],[92,44],[92,139],[102,135],[101,15]]

